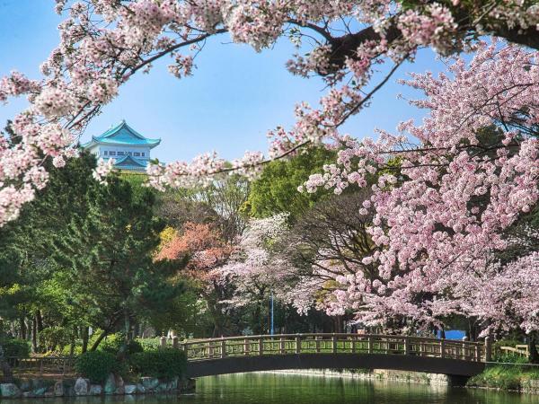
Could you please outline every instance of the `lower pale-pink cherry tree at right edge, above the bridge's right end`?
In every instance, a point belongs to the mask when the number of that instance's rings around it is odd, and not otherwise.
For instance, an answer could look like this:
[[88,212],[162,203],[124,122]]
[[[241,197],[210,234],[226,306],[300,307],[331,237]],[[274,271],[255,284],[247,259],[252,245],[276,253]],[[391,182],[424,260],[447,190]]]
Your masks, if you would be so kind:
[[455,312],[477,319],[482,335],[526,333],[530,359],[537,363],[539,232],[535,221],[526,219],[506,232],[506,250],[490,252],[482,271],[467,271],[454,280],[445,299],[452,300]]

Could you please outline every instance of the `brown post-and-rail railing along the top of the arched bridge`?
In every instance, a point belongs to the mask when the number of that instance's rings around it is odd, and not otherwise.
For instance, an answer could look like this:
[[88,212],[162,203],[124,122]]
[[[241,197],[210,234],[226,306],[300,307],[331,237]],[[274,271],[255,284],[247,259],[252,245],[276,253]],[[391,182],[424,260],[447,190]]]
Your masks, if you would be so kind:
[[474,362],[490,360],[482,342],[376,334],[282,334],[213,338],[180,345],[189,361],[228,356],[297,354],[386,354],[434,356]]

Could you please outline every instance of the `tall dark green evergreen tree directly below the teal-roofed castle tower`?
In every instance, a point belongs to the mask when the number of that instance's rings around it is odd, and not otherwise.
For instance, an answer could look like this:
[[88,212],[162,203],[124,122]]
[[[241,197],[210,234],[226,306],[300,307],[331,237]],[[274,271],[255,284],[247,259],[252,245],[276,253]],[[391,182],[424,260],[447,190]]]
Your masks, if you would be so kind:
[[154,261],[164,225],[154,216],[153,192],[135,195],[118,177],[108,182],[89,189],[87,211],[74,215],[52,256],[67,268],[63,282],[73,285],[74,303],[90,308],[103,329],[92,349],[115,329],[123,329],[127,346],[133,321],[166,310],[181,291],[171,281],[178,263]]

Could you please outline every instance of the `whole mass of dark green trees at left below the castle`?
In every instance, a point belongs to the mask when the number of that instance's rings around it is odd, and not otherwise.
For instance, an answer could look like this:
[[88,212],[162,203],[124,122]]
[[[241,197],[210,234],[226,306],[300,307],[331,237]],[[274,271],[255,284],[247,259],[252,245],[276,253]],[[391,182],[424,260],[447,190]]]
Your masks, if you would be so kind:
[[[0,316],[36,352],[95,349],[182,292],[171,279],[181,262],[153,260],[164,225],[155,192],[121,175],[102,186],[94,167],[85,153],[49,167],[46,189],[0,229]],[[89,327],[102,332],[91,340]]]

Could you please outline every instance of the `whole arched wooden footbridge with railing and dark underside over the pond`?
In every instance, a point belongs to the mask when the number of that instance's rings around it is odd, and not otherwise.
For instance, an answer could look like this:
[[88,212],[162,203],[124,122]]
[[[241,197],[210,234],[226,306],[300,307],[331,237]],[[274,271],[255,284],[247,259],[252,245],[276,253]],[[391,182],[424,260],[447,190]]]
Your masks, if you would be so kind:
[[369,334],[283,334],[213,338],[174,345],[187,353],[187,373],[201,377],[282,369],[393,369],[444,373],[455,383],[481,373],[490,340]]

